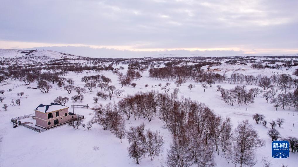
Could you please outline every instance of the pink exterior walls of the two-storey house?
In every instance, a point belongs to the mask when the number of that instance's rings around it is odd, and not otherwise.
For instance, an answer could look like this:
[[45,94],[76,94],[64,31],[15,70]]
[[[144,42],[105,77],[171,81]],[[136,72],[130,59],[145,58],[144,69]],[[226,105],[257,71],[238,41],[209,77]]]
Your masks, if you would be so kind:
[[[73,119],[72,116],[74,116],[74,118],[77,118],[77,114],[68,115],[68,108],[59,110],[58,112],[59,112],[59,116],[56,117],[56,111],[55,112],[42,113],[42,112],[39,112],[39,111],[35,110],[36,125],[41,126],[43,128],[46,128],[47,126],[54,125],[54,120],[57,120],[57,119],[58,119],[59,123],[62,123],[62,122],[66,122],[70,119]],[[53,118],[48,119],[48,114],[49,113],[53,113]],[[67,113],[67,116],[65,116],[65,113]],[[50,125],[48,125],[49,121],[51,122]]]

